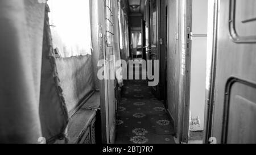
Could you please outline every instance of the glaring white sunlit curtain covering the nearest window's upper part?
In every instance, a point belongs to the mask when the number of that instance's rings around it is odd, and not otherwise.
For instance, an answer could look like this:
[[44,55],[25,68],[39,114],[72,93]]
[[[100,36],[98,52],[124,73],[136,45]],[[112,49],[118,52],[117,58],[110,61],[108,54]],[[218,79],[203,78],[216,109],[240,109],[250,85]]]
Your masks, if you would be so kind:
[[89,0],[50,0],[53,48],[61,57],[91,55]]

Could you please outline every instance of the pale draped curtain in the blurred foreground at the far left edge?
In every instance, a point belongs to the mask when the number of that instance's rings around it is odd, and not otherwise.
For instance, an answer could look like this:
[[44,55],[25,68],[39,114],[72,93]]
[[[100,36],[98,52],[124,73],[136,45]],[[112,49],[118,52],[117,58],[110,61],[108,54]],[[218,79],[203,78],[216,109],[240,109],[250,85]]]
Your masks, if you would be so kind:
[[0,1],[0,143],[37,143],[45,4]]

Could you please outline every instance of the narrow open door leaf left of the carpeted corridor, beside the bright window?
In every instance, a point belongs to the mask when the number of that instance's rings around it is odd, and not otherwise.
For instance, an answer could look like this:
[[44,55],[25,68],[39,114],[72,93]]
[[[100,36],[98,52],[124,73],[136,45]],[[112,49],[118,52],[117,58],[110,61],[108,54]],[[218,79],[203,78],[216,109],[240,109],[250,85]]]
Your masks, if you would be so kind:
[[[101,81],[101,121],[102,143],[113,144],[115,141],[115,91],[114,91],[114,53],[113,53],[113,0],[104,0],[105,27],[99,26],[100,58],[106,60],[105,80]],[[115,6],[117,7],[117,6]],[[105,31],[105,32],[104,32]],[[105,34],[105,38],[103,37]],[[104,45],[101,45],[104,43]],[[103,49],[104,48],[104,49]]]

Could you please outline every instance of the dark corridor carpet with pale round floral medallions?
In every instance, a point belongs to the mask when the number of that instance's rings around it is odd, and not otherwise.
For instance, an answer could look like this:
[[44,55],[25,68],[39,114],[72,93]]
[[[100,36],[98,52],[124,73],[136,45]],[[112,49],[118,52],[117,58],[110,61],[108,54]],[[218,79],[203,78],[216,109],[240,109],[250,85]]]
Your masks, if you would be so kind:
[[116,144],[174,144],[173,125],[147,81],[125,81],[116,124]]

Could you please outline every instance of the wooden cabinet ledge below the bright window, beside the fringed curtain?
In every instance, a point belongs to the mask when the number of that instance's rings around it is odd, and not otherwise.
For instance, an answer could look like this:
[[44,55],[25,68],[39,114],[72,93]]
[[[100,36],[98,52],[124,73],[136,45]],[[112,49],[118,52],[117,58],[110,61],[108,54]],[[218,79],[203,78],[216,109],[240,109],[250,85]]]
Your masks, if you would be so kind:
[[[72,116],[68,137],[71,144],[101,143],[100,97],[94,94],[84,106]],[[97,137],[96,137],[97,135]]]

